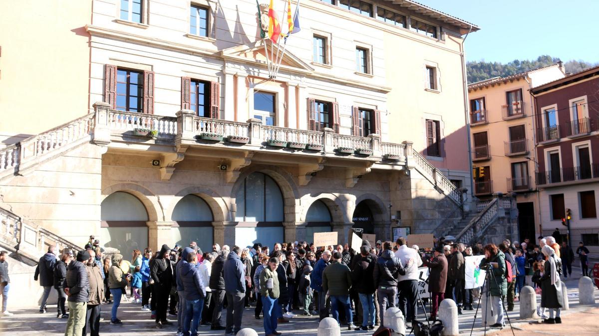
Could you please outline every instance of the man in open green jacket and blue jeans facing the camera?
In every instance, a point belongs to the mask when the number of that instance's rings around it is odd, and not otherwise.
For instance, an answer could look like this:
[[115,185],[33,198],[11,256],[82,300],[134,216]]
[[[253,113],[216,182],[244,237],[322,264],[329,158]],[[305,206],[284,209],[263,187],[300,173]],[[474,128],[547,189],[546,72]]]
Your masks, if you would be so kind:
[[260,295],[262,313],[264,313],[264,334],[266,336],[280,335],[277,332],[277,319],[283,316],[279,305],[279,258],[268,260],[268,266],[260,273]]

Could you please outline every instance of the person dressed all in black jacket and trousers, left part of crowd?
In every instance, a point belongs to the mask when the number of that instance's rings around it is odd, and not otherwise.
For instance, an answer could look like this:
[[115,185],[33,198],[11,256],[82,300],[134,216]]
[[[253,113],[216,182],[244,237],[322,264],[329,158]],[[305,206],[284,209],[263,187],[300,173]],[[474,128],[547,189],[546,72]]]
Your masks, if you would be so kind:
[[167,320],[168,296],[171,294],[173,286],[173,267],[169,255],[171,249],[168,245],[162,245],[150,270],[150,276],[154,280],[154,292],[152,301],[156,300],[156,327],[163,328],[164,325],[172,325]]

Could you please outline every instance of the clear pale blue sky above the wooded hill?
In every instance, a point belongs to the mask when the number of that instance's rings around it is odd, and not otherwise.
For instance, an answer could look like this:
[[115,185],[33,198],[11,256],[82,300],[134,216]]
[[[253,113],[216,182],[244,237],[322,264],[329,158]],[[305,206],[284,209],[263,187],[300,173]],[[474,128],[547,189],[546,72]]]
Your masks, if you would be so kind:
[[507,63],[547,54],[599,62],[599,0],[416,0],[479,26],[468,60]]

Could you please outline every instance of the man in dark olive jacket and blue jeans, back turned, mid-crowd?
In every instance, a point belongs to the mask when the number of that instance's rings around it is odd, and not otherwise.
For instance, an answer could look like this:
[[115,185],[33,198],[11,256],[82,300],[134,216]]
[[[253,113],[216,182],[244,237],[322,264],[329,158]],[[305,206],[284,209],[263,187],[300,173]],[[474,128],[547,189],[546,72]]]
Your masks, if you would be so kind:
[[345,310],[345,316],[349,322],[348,330],[356,328],[353,325],[352,305],[349,302],[349,289],[352,287],[352,272],[341,264],[341,252],[335,251],[332,255],[331,265],[322,272],[322,291],[328,292],[331,297],[332,317],[339,323],[339,306]]

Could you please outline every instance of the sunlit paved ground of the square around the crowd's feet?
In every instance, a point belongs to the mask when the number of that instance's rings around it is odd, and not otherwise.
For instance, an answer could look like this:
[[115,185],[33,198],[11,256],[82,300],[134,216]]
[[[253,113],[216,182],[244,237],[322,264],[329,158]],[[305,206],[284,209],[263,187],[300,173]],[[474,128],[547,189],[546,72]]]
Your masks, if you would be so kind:
[[[562,312],[564,323],[562,325],[533,325],[530,322],[538,322],[538,320],[519,320],[519,303],[516,301],[515,308],[510,311],[509,317],[513,325],[516,326],[516,334],[531,335],[533,331],[544,332],[551,335],[562,334],[577,334],[587,335],[599,334],[599,319],[595,314],[599,314],[597,309],[592,310],[590,306],[580,306],[578,304],[578,285],[579,276],[571,277],[566,281],[568,286],[568,295],[570,301],[570,310]],[[595,289],[595,298],[599,306],[599,291]],[[18,300],[18,295],[13,295],[11,300]],[[540,302],[540,298],[537,299]],[[14,301],[11,301],[14,303]],[[121,303],[119,307],[119,318],[123,320],[123,325],[111,325],[110,321],[110,304],[102,305],[101,334],[111,335],[174,335],[177,332],[176,326],[165,326],[164,329],[154,328],[153,320],[150,319],[150,314],[147,311],[141,311],[139,305],[132,303]],[[428,310],[428,306],[426,307]],[[476,307],[475,307],[476,308]],[[259,335],[264,335],[262,320],[256,320],[253,316],[253,307],[246,308],[243,314],[242,328],[255,329]],[[63,335],[65,331],[65,319],[57,319],[56,306],[49,306],[49,311],[52,313],[40,314],[37,307],[26,307],[20,309],[11,309],[14,313],[10,317],[0,318],[0,335]],[[224,311],[223,311],[224,312]],[[479,321],[475,323],[474,335],[482,335],[483,329],[480,328],[480,310],[478,313]],[[422,311],[420,317],[423,319]],[[474,311],[464,311],[464,315],[459,317],[459,330],[461,334],[469,334],[474,318]],[[170,316],[169,319],[175,320],[176,317]],[[576,323],[579,320],[582,323]],[[507,323],[507,320],[506,320]],[[317,317],[298,316],[292,319],[291,323],[283,323],[279,325],[277,331],[283,335],[305,335],[316,336],[316,328],[318,326]],[[577,329],[570,329],[576,326]],[[588,327],[588,328],[587,328]],[[590,328],[590,329],[589,329]],[[576,332],[571,332],[576,330]],[[590,331],[592,330],[592,332]],[[498,331],[487,331],[487,334],[497,334]],[[199,328],[199,335],[223,335],[224,332],[212,331],[210,327],[203,326]],[[347,331],[347,328],[341,328],[343,335],[372,335],[372,332],[357,332]],[[510,335],[510,329],[504,329],[500,332],[501,335]]]

